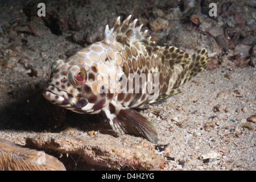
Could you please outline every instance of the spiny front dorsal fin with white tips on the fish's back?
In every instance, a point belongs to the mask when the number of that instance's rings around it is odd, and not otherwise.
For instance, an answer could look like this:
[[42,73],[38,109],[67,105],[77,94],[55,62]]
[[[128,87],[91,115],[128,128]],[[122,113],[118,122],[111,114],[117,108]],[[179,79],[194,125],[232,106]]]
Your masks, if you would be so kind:
[[129,15],[122,23],[120,23],[120,16],[115,20],[113,26],[109,29],[109,25],[105,28],[104,40],[110,40],[111,42],[121,42],[125,44],[133,44],[141,42],[145,45],[150,45],[151,36],[147,36],[147,30],[141,31],[143,24],[135,27],[138,19],[134,19],[133,22],[129,23],[131,15]]

